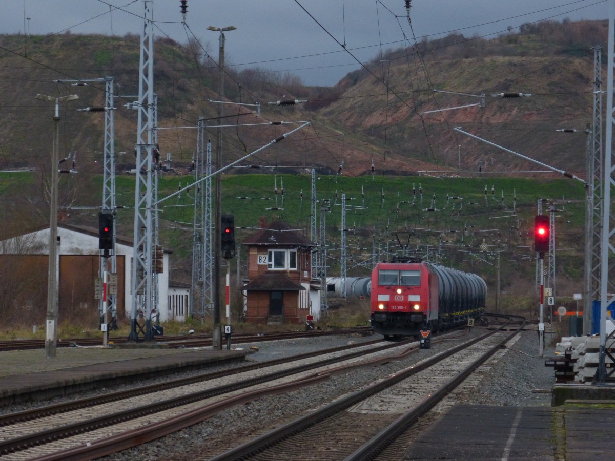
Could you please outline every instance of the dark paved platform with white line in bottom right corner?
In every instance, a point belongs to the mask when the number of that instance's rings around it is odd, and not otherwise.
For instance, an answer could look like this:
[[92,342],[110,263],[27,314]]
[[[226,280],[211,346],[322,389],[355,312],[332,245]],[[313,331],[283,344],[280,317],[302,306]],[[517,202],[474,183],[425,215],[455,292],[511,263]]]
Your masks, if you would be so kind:
[[420,435],[404,460],[615,459],[615,404],[457,405]]

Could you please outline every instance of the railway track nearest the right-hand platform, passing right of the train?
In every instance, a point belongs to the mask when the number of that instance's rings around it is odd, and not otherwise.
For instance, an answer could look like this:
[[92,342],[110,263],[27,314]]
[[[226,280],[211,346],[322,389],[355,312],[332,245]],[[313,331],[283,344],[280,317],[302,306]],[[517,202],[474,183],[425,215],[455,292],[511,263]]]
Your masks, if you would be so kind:
[[395,441],[517,334],[523,322],[511,322],[517,323],[512,333],[504,331],[510,323],[503,325],[212,460],[363,460],[383,452],[382,459],[403,458],[407,445],[395,449]]

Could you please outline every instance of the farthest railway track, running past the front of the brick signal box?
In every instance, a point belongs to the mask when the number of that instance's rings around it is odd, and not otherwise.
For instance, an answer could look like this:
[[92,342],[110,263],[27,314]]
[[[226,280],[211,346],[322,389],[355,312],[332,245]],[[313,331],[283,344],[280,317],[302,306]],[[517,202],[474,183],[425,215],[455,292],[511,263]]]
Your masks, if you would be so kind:
[[[266,333],[234,333],[232,344],[245,344],[254,341],[279,341],[280,339],[293,339],[300,337],[328,336],[331,334],[372,334],[370,327],[342,328],[312,331],[279,331]],[[124,344],[125,337],[109,337],[109,343]],[[158,336],[156,342],[167,344],[171,348],[180,347],[207,347],[212,345],[210,334],[195,334],[192,336]],[[72,338],[58,339],[57,347],[93,347],[103,345],[102,338]],[[14,341],[0,341],[0,352],[6,350],[44,349],[44,339],[18,339]]]

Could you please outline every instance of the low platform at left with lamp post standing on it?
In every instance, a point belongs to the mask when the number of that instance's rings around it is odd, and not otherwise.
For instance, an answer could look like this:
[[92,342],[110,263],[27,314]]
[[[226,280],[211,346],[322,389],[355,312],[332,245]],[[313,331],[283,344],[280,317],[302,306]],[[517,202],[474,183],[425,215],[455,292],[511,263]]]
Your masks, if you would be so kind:
[[194,349],[58,349],[0,353],[0,405],[53,398],[110,385],[138,383],[177,371],[205,369],[212,364],[243,361],[250,350]]

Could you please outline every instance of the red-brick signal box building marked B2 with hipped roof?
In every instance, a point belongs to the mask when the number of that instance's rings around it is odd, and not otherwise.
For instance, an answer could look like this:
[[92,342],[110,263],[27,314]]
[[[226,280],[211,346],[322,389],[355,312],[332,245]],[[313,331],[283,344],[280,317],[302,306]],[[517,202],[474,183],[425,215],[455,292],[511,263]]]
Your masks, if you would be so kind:
[[244,280],[245,320],[257,324],[318,320],[320,283],[310,285],[314,243],[282,221],[267,224],[244,240],[248,278]]

